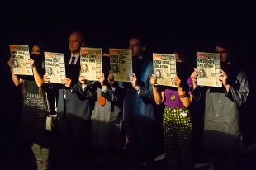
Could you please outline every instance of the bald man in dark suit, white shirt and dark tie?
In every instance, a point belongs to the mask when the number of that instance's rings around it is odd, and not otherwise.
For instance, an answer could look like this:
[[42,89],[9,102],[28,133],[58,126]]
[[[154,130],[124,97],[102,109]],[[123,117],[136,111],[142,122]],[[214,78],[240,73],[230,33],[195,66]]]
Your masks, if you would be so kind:
[[[73,32],[69,36],[70,53],[65,55],[66,78],[58,87],[57,115],[61,136],[62,168],[84,168],[90,150],[90,116],[94,92],[91,84],[80,75],[80,48],[83,35]],[[50,83],[47,76],[45,83]]]

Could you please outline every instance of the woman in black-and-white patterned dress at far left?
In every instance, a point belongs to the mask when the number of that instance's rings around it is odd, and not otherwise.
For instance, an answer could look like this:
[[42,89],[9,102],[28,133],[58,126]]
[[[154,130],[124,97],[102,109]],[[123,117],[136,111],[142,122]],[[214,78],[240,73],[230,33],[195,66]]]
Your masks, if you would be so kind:
[[40,46],[33,45],[31,59],[28,59],[33,70],[33,76],[21,76],[13,73],[13,59],[8,65],[12,74],[12,81],[21,86],[23,94],[22,127],[25,142],[31,144],[36,159],[37,169],[49,169],[49,144],[45,127],[46,116],[49,115],[42,75],[45,73]]

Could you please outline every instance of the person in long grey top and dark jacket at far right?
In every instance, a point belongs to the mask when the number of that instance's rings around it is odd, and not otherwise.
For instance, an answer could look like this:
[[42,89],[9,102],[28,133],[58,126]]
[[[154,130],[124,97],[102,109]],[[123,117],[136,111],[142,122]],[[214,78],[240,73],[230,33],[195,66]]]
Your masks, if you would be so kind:
[[213,158],[216,169],[234,169],[234,158],[242,146],[239,111],[249,95],[248,78],[235,64],[229,43],[217,44],[216,52],[220,53],[222,87],[198,86],[195,68],[191,88],[197,101],[205,103],[203,150]]

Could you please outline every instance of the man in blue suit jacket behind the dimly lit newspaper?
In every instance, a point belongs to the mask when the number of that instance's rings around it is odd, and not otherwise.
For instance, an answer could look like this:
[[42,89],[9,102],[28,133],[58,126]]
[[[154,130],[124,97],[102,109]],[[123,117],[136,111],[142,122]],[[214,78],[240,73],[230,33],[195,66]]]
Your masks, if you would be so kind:
[[131,146],[133,168],[154,169],[154,97],[150,78],[153,64],[145,59],[145,45],[140,37],[131,37],[129,48],[132,50],[130,84],[126,84],[124,100],[124,121]]

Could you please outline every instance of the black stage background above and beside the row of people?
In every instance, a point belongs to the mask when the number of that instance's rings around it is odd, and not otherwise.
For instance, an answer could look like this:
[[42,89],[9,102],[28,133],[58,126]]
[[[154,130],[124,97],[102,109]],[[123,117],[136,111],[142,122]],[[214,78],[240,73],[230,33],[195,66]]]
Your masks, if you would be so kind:
[[[1,158],[10,162],[20,138],[21,103],[7,66],[9,44],[45,42],[45,50],[64,52],[69,34],[83,31],[88,46],[126,48],[134,32],[142,32],[149,50],[170,53],[183,46],[191,57],[214,50],[216,40],[230,40],[249,72],[250,94],[245,106],[245,139],[256,140],[255,40],[256,2],[216,1],[8,1],[0,10]],[[4,165],[4,164],[3,164]],[[1,167],[0,167],[1,168]]]

